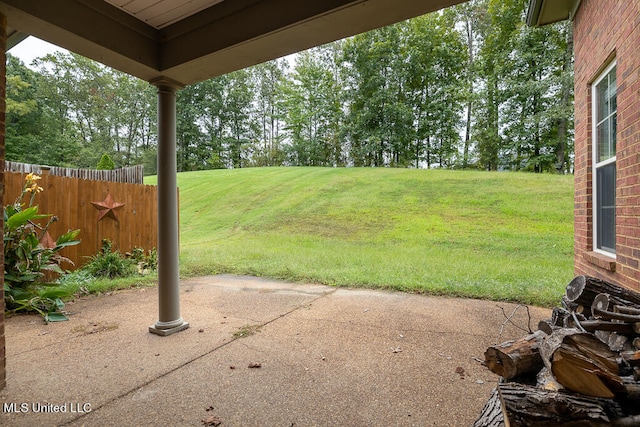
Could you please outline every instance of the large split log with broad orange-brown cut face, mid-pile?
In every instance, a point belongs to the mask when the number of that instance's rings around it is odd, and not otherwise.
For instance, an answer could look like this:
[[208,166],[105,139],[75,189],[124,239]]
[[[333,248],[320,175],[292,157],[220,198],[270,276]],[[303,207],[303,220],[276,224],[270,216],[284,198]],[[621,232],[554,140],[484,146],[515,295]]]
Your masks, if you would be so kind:
[[540,346],[543,363],[568,390],[613,398],[622,387],[616,353],[593,334],[561,329]]

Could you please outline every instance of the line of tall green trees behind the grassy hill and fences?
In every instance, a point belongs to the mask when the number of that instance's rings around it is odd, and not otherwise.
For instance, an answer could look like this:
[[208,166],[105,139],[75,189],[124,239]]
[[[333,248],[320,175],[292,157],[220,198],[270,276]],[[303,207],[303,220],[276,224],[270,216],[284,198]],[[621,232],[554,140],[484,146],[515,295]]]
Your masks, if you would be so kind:
[[[190,85],[178,170],[377,166],[572,171],[571,26],[472,0]],[[7,60],[8,160],[155,173],[155,88],[73,53]]]

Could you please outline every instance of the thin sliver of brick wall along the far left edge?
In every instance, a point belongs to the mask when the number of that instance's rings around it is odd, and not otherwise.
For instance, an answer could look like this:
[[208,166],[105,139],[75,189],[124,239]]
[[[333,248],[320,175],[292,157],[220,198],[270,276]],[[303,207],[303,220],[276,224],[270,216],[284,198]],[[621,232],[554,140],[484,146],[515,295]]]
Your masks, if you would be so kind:
[[[4,137],[5,137],[5,95],[7,82],[6,55],[7,50],[7,18],[0,14],[0,171],[4,170]],[[4,206],[4,174],[0,173],[0,203]],[[0,216],[0,229],[4,228]],[[0,243],[2,248],[3,243]],[[4,265],[4,249],[0,250],[0,260]],[[4,274],[0,274],[0,289],[4,288]],[[0,292],[0,390],[6,385],[7,361],[4,339],[4,292]]]

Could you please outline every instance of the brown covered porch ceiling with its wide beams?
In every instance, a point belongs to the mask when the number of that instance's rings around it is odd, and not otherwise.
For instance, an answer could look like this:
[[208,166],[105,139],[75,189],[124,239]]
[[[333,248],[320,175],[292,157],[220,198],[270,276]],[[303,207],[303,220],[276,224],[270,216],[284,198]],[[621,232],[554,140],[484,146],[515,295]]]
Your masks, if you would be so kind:
[[8,46],[33,35],[188,85],[465,0],[0,0]]

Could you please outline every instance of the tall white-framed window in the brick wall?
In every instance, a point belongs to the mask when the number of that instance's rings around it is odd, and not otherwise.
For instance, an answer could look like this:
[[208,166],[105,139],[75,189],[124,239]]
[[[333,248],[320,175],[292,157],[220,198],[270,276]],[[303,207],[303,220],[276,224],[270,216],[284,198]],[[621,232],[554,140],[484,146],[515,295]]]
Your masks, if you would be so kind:
[[593,104],[593,250],[616,254],[616,63],[592,86]]

